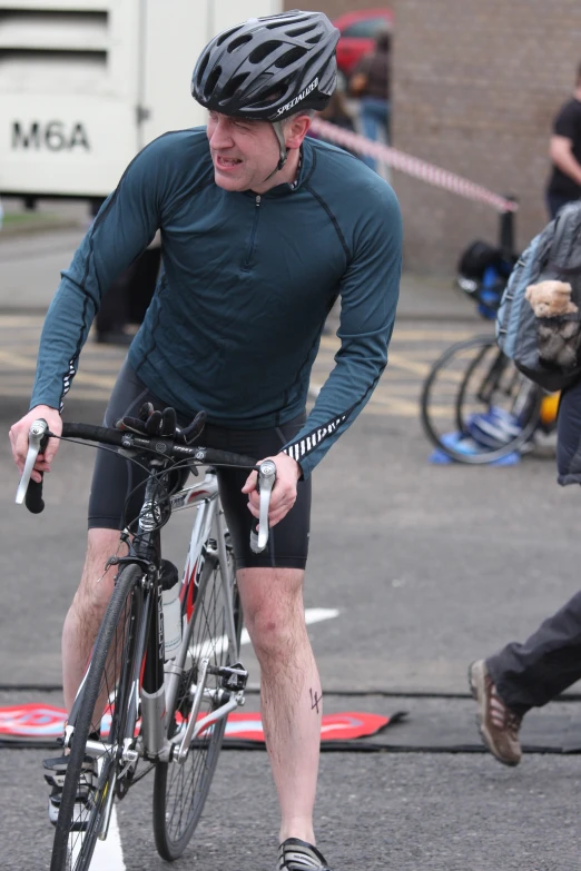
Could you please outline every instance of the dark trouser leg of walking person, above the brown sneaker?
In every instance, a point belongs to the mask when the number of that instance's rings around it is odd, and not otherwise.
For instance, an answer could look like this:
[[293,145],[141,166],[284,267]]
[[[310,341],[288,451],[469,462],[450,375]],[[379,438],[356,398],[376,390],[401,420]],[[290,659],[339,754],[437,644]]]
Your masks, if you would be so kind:
[[580,680],[581,592],[524,644],[508,644],[486,665],[503,702],[520,714],[546,704]]

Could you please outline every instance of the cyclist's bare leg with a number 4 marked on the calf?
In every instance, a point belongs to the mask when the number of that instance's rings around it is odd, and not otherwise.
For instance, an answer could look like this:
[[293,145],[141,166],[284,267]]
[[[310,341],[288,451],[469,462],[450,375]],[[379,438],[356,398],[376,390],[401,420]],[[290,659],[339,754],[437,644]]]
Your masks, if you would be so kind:
[[301,838],[314,844],[323,705],[305,625],[304,572],[243,568],[237,576],[246,625],[260,663],[262,714],[280,804],[280,841]]

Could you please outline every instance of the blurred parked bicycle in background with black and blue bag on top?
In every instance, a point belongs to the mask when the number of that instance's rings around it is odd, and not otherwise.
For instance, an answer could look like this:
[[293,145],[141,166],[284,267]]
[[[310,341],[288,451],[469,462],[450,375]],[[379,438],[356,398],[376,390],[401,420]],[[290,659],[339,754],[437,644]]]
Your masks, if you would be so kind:
[[[494,320],[514,260],[481,241],[463,254],[457,286],[483,319]],[[558,405],[559,395],[522,375],[491,330],[452,345],[436,359],[422,387],[421,419],[441,457],[488,464],[551,444]]]

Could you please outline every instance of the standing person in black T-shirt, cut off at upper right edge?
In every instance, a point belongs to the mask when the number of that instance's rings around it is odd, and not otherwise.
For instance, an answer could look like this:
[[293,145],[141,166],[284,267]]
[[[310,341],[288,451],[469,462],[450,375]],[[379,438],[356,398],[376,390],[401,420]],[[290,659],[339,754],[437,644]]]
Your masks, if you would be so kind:
[[546,188],[551,219],[565,202],[581,197],[581,63],[573,96],[561,107],[549,145],[553,170]]

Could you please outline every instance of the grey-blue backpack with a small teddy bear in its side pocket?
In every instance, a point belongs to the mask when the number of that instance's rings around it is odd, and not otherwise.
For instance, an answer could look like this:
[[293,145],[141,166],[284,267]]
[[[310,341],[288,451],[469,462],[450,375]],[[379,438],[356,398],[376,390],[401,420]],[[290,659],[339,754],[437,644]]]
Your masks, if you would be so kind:
[[512,270],[496,315],[499,347],[545,390],[569,387],[581,376],[580,308],[581,201],[574,201],[534,237]]

